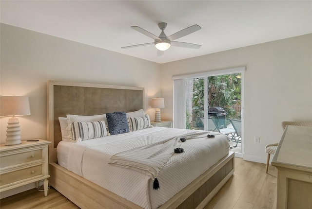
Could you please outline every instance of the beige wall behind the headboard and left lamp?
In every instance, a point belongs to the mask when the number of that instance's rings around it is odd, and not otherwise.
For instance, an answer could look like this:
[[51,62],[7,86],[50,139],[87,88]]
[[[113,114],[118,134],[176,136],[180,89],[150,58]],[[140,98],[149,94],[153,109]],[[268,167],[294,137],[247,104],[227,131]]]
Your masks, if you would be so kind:
[[[0,95],[28,96],[31,115],[20,116],[22,140],[47,139],[47,81],[145,87],[145,110],[160,97],[160,64],[51,35],[0,25]],[[5,142],[8,117],[1,117]]]

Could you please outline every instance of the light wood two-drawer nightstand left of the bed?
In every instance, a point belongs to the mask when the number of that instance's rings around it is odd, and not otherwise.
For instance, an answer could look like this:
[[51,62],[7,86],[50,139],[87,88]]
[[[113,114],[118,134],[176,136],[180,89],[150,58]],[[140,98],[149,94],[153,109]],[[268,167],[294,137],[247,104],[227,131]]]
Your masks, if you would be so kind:
[[48,194],[49,143],[22,141],[21,144],[5,146],[0,144],[0,192],[44,179],[44,195]]

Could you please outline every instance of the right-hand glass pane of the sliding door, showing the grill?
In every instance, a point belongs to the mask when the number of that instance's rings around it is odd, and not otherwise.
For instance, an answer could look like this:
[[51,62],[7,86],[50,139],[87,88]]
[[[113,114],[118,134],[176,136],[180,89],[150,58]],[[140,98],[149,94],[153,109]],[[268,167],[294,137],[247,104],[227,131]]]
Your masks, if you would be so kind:
[[229,136],[232,151],[241,152],[241,73],[208,77],[208,130]]

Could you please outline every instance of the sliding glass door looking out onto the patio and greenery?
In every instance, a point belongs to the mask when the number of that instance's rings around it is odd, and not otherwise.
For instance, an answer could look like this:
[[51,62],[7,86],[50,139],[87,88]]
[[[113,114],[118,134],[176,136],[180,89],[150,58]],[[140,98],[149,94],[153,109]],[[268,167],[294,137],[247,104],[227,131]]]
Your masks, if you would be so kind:
[[[182,120],[185,127],[181,128],[226,134],[233,151],[241,153],[242,73],[243,71],[213,75],[208,73],[182,79],[180,87],[183,91],[175,91],[175,94],[183,92],[181,100],[185,102],[185,109],[180,108],[180,111],[185,111]],[[176,102],[175,99],[175,106]]]

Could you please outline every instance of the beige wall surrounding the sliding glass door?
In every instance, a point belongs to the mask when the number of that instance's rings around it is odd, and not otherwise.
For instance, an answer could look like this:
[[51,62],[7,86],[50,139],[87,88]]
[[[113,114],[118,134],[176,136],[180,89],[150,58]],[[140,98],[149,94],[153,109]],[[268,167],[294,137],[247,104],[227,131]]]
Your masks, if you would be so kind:
[[246,67],[244,158],[265,163],[282,121],[312,121],[312,34],[162,64],[162,117],[173,118],[172,76],[234,67]]

